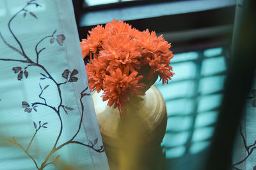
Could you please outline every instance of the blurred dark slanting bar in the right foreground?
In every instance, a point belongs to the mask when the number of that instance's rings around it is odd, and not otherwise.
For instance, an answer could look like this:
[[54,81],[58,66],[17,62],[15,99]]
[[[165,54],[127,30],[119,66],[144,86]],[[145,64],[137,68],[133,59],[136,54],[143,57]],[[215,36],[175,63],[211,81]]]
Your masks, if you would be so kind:
[[256,1],[237,1],[232,58],[205,170],[232,169],[233,143],[256,64]]

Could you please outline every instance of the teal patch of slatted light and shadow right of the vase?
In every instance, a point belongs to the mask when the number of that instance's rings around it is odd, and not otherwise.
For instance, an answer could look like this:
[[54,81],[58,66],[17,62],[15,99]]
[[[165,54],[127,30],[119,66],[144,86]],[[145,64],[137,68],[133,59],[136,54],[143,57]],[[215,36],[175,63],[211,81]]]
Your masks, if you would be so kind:
[[162,146],[166,169],[200,169],[204,164],[223,96],[225,48],[175,54],[173,80],[155,85],[166,101],[168,122]]

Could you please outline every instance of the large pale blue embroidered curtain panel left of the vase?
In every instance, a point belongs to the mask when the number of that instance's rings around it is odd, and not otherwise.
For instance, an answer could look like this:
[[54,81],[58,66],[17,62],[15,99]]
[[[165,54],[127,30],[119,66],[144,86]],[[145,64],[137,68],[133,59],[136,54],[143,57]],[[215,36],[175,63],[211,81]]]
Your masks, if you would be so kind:
[[108,169],[71,1],[5,3],[0,168]]

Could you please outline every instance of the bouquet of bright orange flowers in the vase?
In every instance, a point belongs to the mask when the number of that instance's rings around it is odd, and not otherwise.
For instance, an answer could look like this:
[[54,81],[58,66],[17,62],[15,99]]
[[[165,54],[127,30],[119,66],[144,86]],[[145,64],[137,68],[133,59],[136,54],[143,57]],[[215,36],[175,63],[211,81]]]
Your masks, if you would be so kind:
[[[123,21],[97,25],[81,42],[91,91],[103,90],[103,101],[122,113],[131,96],[145,95],[147,83],[171,80],[171,45],[156,32],[138,31]],[[152,81],[153,82],[153,81]],[[154,83],[154,82],[153,82]],[[152,84],[150,84],[151,86]]]

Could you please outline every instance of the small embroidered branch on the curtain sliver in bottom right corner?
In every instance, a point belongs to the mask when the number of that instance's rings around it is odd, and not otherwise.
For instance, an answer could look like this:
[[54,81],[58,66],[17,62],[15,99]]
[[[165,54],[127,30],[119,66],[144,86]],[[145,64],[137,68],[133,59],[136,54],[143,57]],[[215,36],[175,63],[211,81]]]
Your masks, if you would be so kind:
[[242,170],[242,169],[237,168],[236,166],[239,165],[239,164],[242,164],[246,159],[248,159],[248,157],[250,157],[250,155],[252,155],[253,150],[255,150],[255,148],[256,148],[256,140],[252,145],[247,145],[246,139],[244,138],[244,134],[242,132],[242,126],[241,125],[240,125],[239,132],[241,134],[241,137],[243,138],[243,145],[244,145],[244,148],[246,150],[247,155],[246,155],[246,157],[244,157],[244,159],[240,160],[236,164],[233,164],[232,167],[233,167],[233,169],[236,169],[236,170]]

